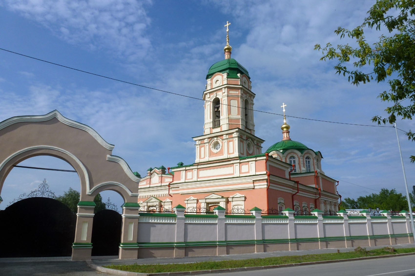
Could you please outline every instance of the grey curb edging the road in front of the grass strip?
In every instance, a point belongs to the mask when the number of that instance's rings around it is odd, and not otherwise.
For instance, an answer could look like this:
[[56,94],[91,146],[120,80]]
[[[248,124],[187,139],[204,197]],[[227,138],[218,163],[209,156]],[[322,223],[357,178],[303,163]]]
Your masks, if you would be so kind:
[[122,271],[122,270],[106,268],[106,267],[96,265],[90,260],[86,261],[86,263],[90,268],[93,268],[93,269],[95,269],[99,272],[104,272],[104,273],[108,273],[108,274],[112,274],[112,275],[120,275],[120,276],[184,276],[184,275],[201,275],[201,274],[210,274],[210,273],[253,271],[253,270],[280,268],[280,267],[303,266],[303,265],[312,265],[312,264],[324,264],[324,263],[335,263],[335,262],[367,260],[367,259],[379,259],[379,258],[391,258],[391,257],[409,256],[409,255],[415,255],[415,252],[394,254],[394,255],[352,258],[352,259],[324,260],[324,261],[311,261],[311,262],[288,263],[288,264],[266,265],[266,266],[250,266],[250,267],[238,267],[238,268],[223,268],[223,269],[197,270],[197,271],[162,272],[162,273],[139,273],[139,272]]

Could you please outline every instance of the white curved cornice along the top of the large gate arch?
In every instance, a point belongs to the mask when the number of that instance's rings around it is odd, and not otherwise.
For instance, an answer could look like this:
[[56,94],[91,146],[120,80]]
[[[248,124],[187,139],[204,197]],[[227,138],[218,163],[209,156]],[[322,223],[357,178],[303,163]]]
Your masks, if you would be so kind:
[[63,117],[63,115],[61,113],[59,113],[58,110],[53,110],[52,112],[49,112],[45,115],[33,115],[33,116],[16,116],[16,117],[12,117],[9,118],[7,120],[4,120],[0,123],[0,129],[4,129],[8,126],[11,126],[13,124],[17,124],[17,123],[24,123],[24,122],[45,122],[45,121],[49,121],[52,120],[53,118],[57,118],[61,123],[76,128],[76,129],[82,129],[86,132],[88,132],[92,137],[95,138],[95,140],[98,141],[98,143],[101,144],[101,146],[103,146],[106,149],[112,150],[114,148],[114,145],[109,144],[108,142],[106,142],[101,136],[100,134],[98,134],[97,131],[95,131],[94,129],[88,127],[87,125],[81,124],[79,122],[70,120],[68,118]]

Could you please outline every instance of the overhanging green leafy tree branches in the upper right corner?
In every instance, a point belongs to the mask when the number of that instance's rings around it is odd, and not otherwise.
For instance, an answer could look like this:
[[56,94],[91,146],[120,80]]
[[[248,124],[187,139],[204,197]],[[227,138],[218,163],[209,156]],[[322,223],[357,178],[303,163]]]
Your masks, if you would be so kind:
[[[415,0],[376,0],[363,23],[353,30],[338,27],[334,33],[340,38],[348,37],[355,42],[333,47],[331,43],[321,47],[321,60],[336,60],[337,74],[359,84],[375,80],[387,81],[389,91],[380,92],[381,101],[390,102],[386,108],[387,118],[374,116],[373,122],[394,123],[396,117],[411,120],[415,115]],[[376,30],[379,37],[370,41],[365,37],[367,30]],[[383,32],[383,33],[380,33]],[[408,99],[406,102],[402,102]],[[415,141],[415,132],[407,133]],[[415,155],[411,156],[415,162]]]

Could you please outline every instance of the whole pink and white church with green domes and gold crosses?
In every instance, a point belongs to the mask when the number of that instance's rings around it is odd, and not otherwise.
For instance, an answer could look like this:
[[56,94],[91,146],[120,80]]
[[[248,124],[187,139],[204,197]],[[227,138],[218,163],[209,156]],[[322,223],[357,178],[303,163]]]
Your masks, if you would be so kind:
[[168,211],[180,204],[202,213],[218,206],[228,213],[253,207],[268,213],[338,211],[338,183],[324,174],[319,151],[291,140],[284,103],[282,140],[263,153],[264,140],[255,136],[255,93],[248,70],[230,57],[229,24],[225,59],[206,76],[204,132],[193,137],[195,162],[149,168],[138,187],[141,210]]

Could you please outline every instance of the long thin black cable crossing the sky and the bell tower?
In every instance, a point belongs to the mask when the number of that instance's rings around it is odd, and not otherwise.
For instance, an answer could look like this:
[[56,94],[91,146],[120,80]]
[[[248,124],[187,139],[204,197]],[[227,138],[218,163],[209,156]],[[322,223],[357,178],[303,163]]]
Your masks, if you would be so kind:
[[[125,80],[121,80],[121,79],[117,79],[117,78],[113,78],[113,77],[109,77],[109,76],[104,76],[104,75],[101,75],[101,74],[95,74],[95,73],[92,73],[92,72],[88,72],[88,71],[76,69],[76,68],[73,68],[73,67],[65,66],[65,65],[62,65],[62,64],[59,64],[59,63],[47,61],[47,60],[44,60],[44,59],[41,59],[41,58],[37,58],[37,57],[33,57],[33,56],[30,56],[30,55],[23,55],[21,53],[13,52],[13,51],[6,50],[6,49],[3,49],[3,48],[0,48],[0,50],[5,51],[5,52],[9,52],[9,53],[12,53],[12,54],[15,54],[15,55],[21,55],[21,56],[24,56],[24,57],[32,58],[32,59],[35,59],[35,60],[38,60],[38,61],[42,61],[42,62],[45,62],[45,63],[49,63],[49,64],[52,64],[52,65],[60,66],[60,67],[66,68],[66,69],[75,70],[75,71],[78,71],[78,72],[81,72],[81,73],[85,73],[85,74],[91,74],[91,75],[94,75],[94,76],[98,76],[98,77],[102,77],[102,78],[106,78],[106,79],[110,79],[110,80],[115,80],[115,81],[118,81],[118,82],[130,84],[130,85],[134,85],[134,86],[138,86],[138,87],[142,87],[142,88],[146,88],[146,89],[150,89],[150,90],[154,90],[154,91],[158,91],[158,92],[164,92],[164,93],[169,93],[169,94],[176,95],[176,96],[187,97],[187,98],[190,98],[190,99],[200,100],[200,101],[204,101],[204,102],[210,102],[210,101],[205,101],[204,99],[200,99],[200,98],[196,98],[196,97],[192,97],[192,96],[188,96],[188,95],[184,95],[184,94],[180,94],[180,93],[175,93],[175,92],[170,92],[170,91],[166,91],[166,90],[162,90],[162,89],[157,89],[157,88],[153,88],[153,87],[149,87],[149,86],[145,86],[145,85],[141,85],[141,84],[137,84],[137,83],[133,83],[133,82],[129,82],[129,81],[125,81]],[[238,108],[237,106],[232,106],[232,105],[229,105],[229,104],[222,104],[222,105]],[[254,109],[247,109],[247,110],[252,110],[252,111],[266,113],[266,114],[271,114],[271,115],[283,116],[283,114],[269,112],[269,111],[254,110]],[[318,119],[311,119],[311,118],[298,117],[298,116],[290,116],[290,115],[286,115],[286,117],[296,118],[296,119],[302,119],[302,120],[309,120],[309,121],[316,121],[316,122],[323,122],[323,123],[341,124],[341,125],[351,125],[351,126],[360,126],[360,127],[393,128],[392,126],[379,126],[379,125],[364,125],[364,124],[342,123],[342,122],[318,120]]]

